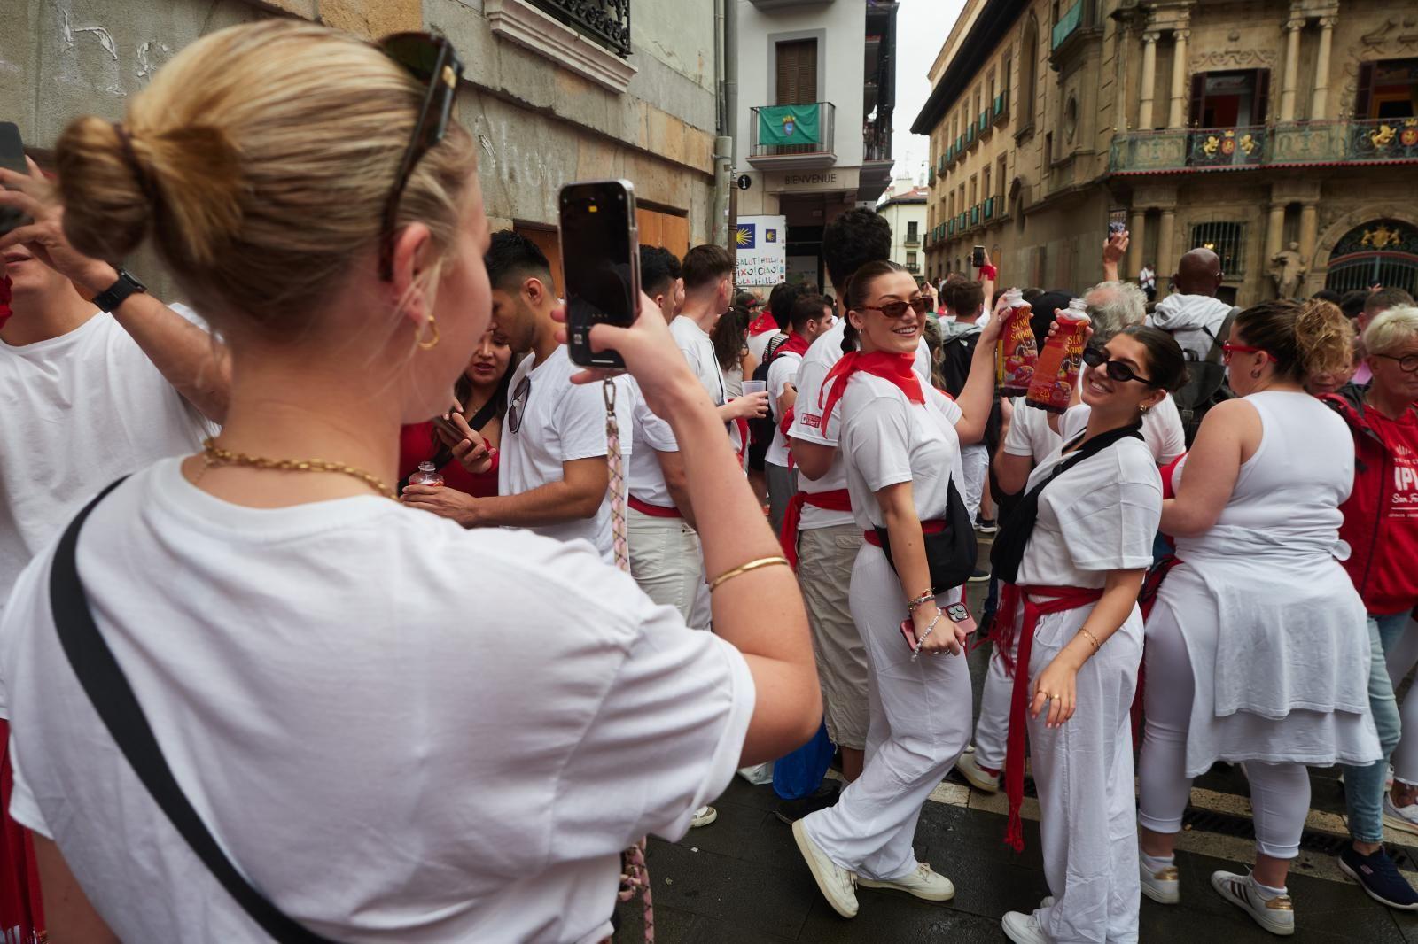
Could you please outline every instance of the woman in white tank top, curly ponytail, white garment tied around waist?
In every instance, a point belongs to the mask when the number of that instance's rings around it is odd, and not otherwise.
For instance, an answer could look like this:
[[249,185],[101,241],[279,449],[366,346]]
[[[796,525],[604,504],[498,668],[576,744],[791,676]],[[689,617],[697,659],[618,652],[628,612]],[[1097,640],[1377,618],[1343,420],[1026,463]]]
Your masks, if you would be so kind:
[[1173,476],[1161,530],[1178,563],[1147,618],[1143,893],[1180,900],[1173,849],[1191,778],[1245,761],[1256,863],[1211,886],[1272,934],[1295,933],[1285,882],[1310,805],[1306,765],[1380,758],[1364,604],[1337,560],[1354,444],[1303,387],[1349,364],[1351,344],[1333,306],[1265,302],[1236,316],[1225,344],[1236,398],[1207,414]]

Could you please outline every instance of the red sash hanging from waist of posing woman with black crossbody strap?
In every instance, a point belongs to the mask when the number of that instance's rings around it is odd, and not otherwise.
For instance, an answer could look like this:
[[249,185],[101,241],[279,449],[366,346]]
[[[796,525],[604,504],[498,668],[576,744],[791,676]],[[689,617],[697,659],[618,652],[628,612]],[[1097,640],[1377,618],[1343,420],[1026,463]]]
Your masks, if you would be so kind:
[[[1039,602],[1034,597],[1041,597]],[[1010,695],[1010,736],[1004,751],[1004,792],[1010,798],[1010,822],[1004,831],[1004,841],[1015,852],[1024,852],[1024,821],[1020,818],[1020,807],[1024,805],[1024,726],[1025,714],[1029,709],[1029,656],[1034,652],[1034,628],[1039,617],[1054,612],[1066,612],[1098,602],[1103,597],[1102,588],[1088,587],[1017,587],[1004,584],[1000,588],[1000,611],[995,615],[995,626],[1003,632],[995,636],[994,645],[1000,658],[1010,668],[1010,644],[1014,639],[1014,615],[1024,604],[1024,619],[1020,624],[1020,655],[1014,659],[1014,690]]]

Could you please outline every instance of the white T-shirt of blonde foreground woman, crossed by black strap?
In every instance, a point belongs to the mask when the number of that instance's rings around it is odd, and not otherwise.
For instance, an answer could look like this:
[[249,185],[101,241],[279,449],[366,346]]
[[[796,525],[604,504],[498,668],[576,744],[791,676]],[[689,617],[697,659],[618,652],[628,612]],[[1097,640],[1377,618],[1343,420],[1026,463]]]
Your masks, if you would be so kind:
[[[268,941],[79,687],[50,563],[0,622],[11,814],[125,941]],[[374,496],[241,507],[167,459],[104,499],[78,566],[207,828],[339,941],[605,938],[620,850],[686,832],[753,712],[743,656],[587,546]]]

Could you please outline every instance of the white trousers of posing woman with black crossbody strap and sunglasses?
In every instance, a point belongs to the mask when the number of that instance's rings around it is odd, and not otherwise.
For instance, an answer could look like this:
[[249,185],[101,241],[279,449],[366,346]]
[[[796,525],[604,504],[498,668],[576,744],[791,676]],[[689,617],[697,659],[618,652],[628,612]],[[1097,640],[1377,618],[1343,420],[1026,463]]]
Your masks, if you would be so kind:
[[[1029,679],[1039,678],[1083,625],[1092,607],[1039,619]],[[1133,805],[1132,706],[1141,663],[1136,609],[1076,676],[1078,710],[1049,729],[1048,713],[1027,717],[1029,763],[1039,792],[1044,876],[1055,903],[1039,927],[1056,944],[1137,940],[1141,882]]]

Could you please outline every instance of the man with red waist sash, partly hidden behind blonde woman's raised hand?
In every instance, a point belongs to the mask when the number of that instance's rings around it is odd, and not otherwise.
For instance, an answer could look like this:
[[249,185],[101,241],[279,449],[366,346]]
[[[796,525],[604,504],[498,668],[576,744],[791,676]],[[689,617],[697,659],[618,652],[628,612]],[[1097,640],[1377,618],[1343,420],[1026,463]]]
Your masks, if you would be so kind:
[[[640,247],[640,282],[665,319],[674,320],[683,299],[679,259],[662,247]],[[669,424],[651,412],[638,388],[635,394],[625,513],[630,573],[651,600],[678,609],[692,628],[708,629],[705,608],[695,605],[703,587],[703,551],[695,532],[679,444]]]

